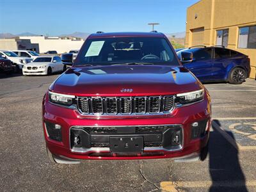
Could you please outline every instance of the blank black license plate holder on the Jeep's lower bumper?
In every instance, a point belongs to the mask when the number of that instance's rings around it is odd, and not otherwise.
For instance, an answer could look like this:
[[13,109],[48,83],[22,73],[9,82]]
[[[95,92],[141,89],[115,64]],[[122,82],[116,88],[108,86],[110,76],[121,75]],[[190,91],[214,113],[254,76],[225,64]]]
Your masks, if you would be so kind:
[[109,148],[112,153],[143,152],[143,136],[109,137]]

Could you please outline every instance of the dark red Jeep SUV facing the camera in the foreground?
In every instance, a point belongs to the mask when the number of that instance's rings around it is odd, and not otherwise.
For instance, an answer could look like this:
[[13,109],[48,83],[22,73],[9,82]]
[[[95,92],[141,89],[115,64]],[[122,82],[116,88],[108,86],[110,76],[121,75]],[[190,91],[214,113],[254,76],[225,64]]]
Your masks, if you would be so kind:
[[[204,159],[210,95],[163,33],[95,33],[49,87],[42,116],[55,163],[81,159]],[[193,59],[182,52],[182,61]]]

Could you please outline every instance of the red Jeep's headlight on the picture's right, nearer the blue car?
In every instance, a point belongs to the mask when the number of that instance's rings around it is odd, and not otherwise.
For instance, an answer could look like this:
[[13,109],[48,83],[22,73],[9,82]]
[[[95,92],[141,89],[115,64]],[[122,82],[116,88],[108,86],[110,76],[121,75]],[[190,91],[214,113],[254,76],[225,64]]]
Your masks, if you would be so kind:
[[195,92],[180,93],[176,96],[178,103],[189,104],[204,99],[204,89]]

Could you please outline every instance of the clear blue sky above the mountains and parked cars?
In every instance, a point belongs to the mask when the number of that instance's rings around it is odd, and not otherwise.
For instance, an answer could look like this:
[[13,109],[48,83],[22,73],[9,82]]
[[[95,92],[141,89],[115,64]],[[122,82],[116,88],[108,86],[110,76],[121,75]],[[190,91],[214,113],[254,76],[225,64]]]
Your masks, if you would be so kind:
[[0,33],[62,35],[75,31],[185,31],[186,8],[198,0],[0,0]]

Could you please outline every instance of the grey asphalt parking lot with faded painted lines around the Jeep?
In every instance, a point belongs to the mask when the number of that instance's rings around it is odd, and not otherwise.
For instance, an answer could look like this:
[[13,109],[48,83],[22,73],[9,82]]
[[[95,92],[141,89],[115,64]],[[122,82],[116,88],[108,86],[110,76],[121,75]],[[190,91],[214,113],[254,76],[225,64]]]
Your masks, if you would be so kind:
[[53,76],[0,75],[1,191],[256,191],[256,81],[205,84],[212,130],[205,161],[172,159],[52,164],[42,97]]

